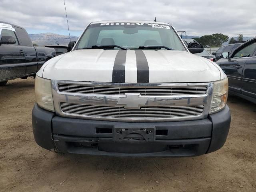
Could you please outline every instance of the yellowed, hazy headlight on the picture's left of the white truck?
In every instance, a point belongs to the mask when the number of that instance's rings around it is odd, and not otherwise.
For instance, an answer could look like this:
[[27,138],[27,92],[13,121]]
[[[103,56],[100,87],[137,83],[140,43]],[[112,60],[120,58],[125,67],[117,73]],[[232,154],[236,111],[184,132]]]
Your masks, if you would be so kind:
[[36,76],[35,92],[38,106],[54,112],[51,80]]

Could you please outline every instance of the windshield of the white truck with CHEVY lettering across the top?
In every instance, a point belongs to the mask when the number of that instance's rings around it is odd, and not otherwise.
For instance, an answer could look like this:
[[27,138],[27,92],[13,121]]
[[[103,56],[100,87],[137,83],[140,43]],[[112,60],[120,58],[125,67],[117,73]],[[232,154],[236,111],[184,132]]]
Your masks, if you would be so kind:
[[128,49],[164,46],[174,50],[186,50],[171,26],[150,23],[91,24],[82,34],[76,49],[107,45]]

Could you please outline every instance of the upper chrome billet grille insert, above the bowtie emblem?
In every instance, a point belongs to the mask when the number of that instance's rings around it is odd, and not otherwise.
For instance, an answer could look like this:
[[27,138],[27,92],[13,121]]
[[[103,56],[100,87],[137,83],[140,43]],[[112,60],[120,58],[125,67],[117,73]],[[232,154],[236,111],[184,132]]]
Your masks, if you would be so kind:
[[82,84],[58,84],[59,92],[124,95],[125,93],[140,93],[141,95],[200,95],[206,94],[206,86],[88,86]]

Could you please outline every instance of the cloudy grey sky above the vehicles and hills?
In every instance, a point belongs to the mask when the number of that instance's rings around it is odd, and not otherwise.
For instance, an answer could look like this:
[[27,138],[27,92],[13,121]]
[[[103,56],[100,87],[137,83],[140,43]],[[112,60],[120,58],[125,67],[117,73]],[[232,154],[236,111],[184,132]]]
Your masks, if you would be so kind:
[[[168,22],[187,35],[213,33],[256,36],[255,0],[65,0],[70,35],[80,36],[99,20]],[[63,0],[0,0],[0,21],[26,28],[29,34],[68,35]]]

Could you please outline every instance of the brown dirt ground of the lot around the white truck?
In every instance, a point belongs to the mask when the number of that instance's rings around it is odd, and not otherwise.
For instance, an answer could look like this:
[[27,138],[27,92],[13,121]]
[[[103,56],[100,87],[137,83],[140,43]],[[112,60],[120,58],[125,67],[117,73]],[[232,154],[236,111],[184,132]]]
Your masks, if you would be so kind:
[[[194,158],[60,155],[33,138],[34,80],[0,87],[1,192],[256,191],[256,105],[229,97],[224,147]],[[162,171],[160,171],[160,170]]]

